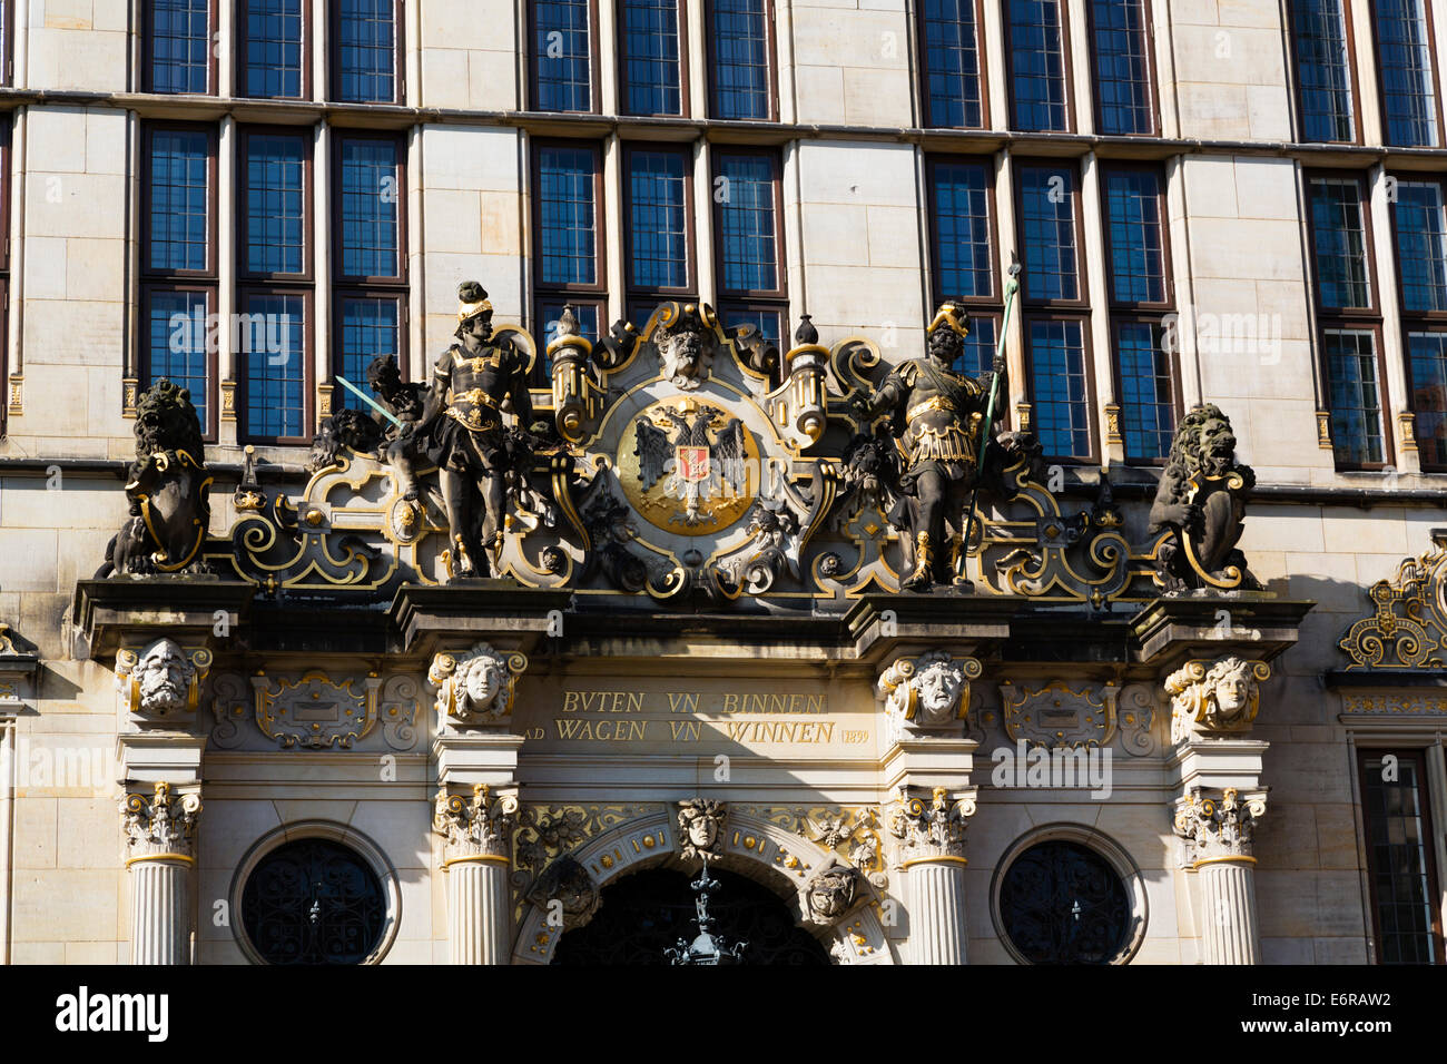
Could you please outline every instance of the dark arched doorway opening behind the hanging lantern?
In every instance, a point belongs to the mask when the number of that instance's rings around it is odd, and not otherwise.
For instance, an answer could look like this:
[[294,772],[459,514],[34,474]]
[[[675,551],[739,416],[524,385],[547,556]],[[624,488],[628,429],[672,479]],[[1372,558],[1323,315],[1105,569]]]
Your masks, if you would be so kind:
[[[709,895],[712,932],[748,942],[745,964],[829,964],[819,940],[765,887],[718,867],[709,874],[719,882]],[[666,964],[664,950],[697,935],[692,879],[650,869],[605,886],[598,915],[559,940],[553,964]]]

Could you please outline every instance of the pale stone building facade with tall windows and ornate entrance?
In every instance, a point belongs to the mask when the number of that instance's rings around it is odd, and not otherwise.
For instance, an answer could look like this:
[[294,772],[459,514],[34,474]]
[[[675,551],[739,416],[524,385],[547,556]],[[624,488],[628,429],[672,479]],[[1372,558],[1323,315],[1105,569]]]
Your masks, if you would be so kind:
[[[1444,0],[0,10],[7,961],[637,960],[708,857],[770,957],[1441,963]],[[488,578],[341,384],[470,279]]]

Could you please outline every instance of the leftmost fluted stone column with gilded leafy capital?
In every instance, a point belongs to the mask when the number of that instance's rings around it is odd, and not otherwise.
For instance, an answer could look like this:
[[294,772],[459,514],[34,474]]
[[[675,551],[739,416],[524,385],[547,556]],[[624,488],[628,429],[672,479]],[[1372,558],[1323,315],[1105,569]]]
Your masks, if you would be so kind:
[[156,783],[150,795],[124,795],[120,812],[130,873],[132,963],[190,964],[201,796]]

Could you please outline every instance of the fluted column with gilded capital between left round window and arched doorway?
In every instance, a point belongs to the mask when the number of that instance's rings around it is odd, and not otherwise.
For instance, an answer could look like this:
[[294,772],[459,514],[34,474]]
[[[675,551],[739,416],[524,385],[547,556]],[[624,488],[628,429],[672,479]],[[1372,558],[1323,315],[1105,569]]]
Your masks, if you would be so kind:
[[512,947],[509,850],[517,795],[493,795],[476,783],[472,799],[437,792],[433,828],[446,841],[447,941],[453,964],[506,964]]

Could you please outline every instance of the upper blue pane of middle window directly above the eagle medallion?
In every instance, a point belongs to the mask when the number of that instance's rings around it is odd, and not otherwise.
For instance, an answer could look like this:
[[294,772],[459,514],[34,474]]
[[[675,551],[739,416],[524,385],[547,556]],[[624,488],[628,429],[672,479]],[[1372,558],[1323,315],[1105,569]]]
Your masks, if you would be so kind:
[[683,155],[632,152],[628,164],[629,284],[689,287],[689,185]]

